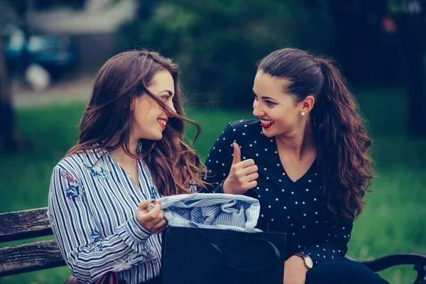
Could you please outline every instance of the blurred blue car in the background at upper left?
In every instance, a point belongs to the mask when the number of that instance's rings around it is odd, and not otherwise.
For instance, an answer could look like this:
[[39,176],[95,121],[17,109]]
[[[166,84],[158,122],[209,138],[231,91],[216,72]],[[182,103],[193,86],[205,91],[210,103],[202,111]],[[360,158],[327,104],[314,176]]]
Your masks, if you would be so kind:
[[51,75],[72,71],[78,62],[77,43],[69,35],[47,35],[32,32],[26,40],[18,26],[4,30],[5,60],[9,67],[25,70],[32,64],[43,66]]

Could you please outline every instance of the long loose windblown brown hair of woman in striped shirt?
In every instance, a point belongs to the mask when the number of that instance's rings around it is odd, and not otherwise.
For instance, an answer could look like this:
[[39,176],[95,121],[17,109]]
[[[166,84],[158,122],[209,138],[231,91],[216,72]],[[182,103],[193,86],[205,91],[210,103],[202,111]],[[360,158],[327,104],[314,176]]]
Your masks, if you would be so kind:
[[[148,91],[151,80],[160,70],[168,70],[173,77],[173,106],[176,113]],[[65,158],[84,150],[103,148],[112,151],[123,147],[127,155],[146,160],[155,185],[162,195],[188,193],[191,185],[204,188],[200,168],[205,167],[195,151],[184,141],[184,121],[197,127],[194,142],[200,135],[201,128],[195,121],[185,118],[179,75],[178,65],[152,51],[126,51],[109,59],[97,74],[92,97],[80,121],[77,142]],[[173,114],[173,117],[170,117],[162,139],[141,139],[142,153],[134,155],[129,149],[133,121],[131,102],[142,95],[151,97],[168,114]]]

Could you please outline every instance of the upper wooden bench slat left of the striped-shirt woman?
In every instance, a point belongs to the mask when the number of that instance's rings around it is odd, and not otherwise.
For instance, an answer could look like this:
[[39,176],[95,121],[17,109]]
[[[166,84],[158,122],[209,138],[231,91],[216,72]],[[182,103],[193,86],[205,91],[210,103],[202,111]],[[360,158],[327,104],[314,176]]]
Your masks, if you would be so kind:
[[52,235],[47,207],[0,214],[0,243]]

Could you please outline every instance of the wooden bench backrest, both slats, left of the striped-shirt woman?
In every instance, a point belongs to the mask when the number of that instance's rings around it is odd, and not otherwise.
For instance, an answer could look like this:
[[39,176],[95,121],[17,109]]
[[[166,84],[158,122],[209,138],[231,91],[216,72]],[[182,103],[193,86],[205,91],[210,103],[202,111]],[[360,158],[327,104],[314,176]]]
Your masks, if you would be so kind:
[[[0,243],[53,235],[47,208],[0,214]],[[55,240],[0,248],[0,277],[65,266]]]

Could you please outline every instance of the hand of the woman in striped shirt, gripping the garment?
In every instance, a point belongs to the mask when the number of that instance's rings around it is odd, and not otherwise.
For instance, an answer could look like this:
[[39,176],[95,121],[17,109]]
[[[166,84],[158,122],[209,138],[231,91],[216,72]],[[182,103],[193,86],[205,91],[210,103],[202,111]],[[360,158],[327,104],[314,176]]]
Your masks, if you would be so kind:
[[[149,211],[148,205],[155,204],[154,208]],[[167,221],[164,219],[164,210],[161,209],[157,200],[142,200],[139,203],[136,219],[148,231],[153,234],[160,234],[165,229]]]

